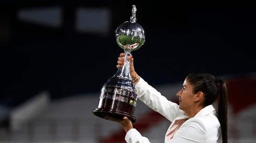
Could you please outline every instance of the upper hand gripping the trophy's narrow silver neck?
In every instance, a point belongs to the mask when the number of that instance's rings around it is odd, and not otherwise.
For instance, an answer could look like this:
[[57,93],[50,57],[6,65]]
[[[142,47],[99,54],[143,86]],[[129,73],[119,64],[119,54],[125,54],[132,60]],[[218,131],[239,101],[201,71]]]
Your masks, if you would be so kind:
[[[121,69],[124,65],[124,56],[125,54],[124,53],[121,53],[120,56],[118,57],[118,61],[117,61],[117,68],[118,69]],[[133,56],[131,55],[130,56],[127,56],[127,60],[130,60],[130,74],[131,74],[131,77],[132,77],[132,81],[136,84],[138,83],[139,81],[139,76],[137,75],[137,73],[135,72],[135,69],[134,69],[134,64],[133,64]]]

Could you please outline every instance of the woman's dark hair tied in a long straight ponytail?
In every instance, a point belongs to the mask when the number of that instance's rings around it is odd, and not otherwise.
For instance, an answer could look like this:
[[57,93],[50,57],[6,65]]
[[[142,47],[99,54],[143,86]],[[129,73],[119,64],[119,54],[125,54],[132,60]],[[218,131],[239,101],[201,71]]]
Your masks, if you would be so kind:
[[228,142],[227,138],[227,86],[224,80],[215,79],[214,75],[207,73],[191,73],[186,77],[193,86],[193,93],[203,92],[203,107],[212,105],[218,101],[218,120],[222,129],[222,140]]

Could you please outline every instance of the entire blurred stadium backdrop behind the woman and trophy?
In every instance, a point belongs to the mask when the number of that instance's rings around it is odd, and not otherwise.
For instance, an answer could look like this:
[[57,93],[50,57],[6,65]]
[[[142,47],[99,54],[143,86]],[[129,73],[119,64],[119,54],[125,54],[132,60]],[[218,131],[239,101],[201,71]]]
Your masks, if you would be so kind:
[[[114,31],[132,5],[146,40],[132,52],[137,73],[173,101],[189,73],[227,79],[230,142],[255,142],[253,4],[79,0],[0,1],[0,142],[124,141],[119,125],[91,111],[117,71]],[[140,102],[135,114],[155,121],[141,131],[162,142],[170,123]]]

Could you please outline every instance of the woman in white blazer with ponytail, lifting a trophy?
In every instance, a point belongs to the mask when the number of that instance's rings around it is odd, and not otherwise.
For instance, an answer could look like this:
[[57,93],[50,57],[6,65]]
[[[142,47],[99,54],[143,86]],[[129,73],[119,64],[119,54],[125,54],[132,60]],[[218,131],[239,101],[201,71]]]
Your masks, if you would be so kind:
[[[117,68],[122,68],[125,54],[118,58]],[[130,74],[137,90],[137,97],[148,107],[165,116],[171,125],[165,135],[165,142],[218,142],[221,133],[222,142],[227,138],[227,87],[223,80],[215,79],[211,74],[189,74],[177,93],[179,105],[167,100],[155,88],[148,85],[134,70],[133,57],[130,60]],[[218,102],[218,110],[213,107]],[[149,142],[135,128],[129,118],[123,120],[107,119],[119,122],[124,128],[126,142]]]

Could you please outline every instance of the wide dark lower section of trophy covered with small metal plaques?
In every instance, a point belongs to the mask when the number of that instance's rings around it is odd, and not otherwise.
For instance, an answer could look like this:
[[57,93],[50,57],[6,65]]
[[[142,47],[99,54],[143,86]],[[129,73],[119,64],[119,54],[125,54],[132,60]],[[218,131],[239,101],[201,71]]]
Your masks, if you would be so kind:
[[[118,74],[121,70],[118,70]],[[134,111],[137,104],[136,88],[131,79],[113,76],[101,88],[98,108],[92,114],[106,119],[106,116],[123,120],[127,116],[136,121]],[[108,119],[106,119],[108,120]]]

